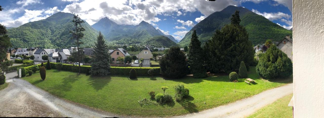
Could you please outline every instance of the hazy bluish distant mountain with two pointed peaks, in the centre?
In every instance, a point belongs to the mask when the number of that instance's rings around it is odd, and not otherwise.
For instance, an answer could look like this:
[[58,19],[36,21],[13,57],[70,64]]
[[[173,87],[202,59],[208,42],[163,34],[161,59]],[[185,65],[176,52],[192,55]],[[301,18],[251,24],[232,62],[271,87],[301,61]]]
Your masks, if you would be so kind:
[[166,36],[169,40],[178,43],[171,35],[163,34],[160,30],[155,29],[151,24],[145,21],[135,26],[125,24],[118,25],[105,17],[93,24],[92,27],[101,31],[108,41],[117,44],[129,44],[129,41],[141,43],[155,36]]

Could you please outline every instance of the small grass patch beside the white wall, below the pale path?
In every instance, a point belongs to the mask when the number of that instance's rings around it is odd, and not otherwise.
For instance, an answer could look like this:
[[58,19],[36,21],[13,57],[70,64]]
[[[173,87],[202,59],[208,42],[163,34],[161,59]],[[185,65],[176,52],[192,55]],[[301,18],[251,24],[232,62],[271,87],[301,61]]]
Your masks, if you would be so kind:
[[272,104],[260,109],[248,118],[292,118],[293,108],[288,103],[293,95],[285,96]]

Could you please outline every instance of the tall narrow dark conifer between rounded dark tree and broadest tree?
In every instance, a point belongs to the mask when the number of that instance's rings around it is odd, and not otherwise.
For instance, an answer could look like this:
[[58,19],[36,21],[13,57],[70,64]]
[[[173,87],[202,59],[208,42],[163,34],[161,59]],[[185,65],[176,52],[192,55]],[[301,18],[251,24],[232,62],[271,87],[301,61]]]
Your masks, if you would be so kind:
[[194,78],[207,77],[206,69],[204,68],[204,53],[201,43],[198,40],[196,30],[193,30],[191,34],[191,41],[189,44],[188,59],[191,73]]

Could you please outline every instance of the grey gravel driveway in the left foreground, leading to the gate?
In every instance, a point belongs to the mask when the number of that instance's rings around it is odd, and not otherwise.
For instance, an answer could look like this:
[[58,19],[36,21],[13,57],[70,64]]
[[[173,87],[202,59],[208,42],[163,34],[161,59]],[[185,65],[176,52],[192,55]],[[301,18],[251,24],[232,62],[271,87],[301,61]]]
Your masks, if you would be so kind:
[[74,117],[98,118],[115,115],[78,105],[31,85],[7,73],[9,86],[0,90],[0,117]]

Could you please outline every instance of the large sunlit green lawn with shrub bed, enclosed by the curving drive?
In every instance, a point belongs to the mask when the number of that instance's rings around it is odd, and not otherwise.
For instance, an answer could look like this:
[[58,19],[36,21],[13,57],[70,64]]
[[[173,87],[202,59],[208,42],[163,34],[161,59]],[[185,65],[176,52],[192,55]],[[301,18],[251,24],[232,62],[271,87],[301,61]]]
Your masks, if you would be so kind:
[[[131,116],[173,116],[183,115],[214,108],[258,94],[264,90],[292,82],[289,78],[281,82],[261,79],[251,67],[249,78],[256,84],[247,84],[243,79],[238,83],[229,82],[227,75],[196,79],[191,76],[182,79],[164,79],[162,77],[127,76],[92,77],[74,72],[46,70],[46,79],[41,80],[39,72],[24,77],[33,85],[53,95],[62,97],[93,108],[120,115]],[[184,84],[190,90],[190,97],[182,102],[173,101],[165,105],[140,106],[139,100],[150,98],[148,92],[163,93],[162,86],[168,86],[166,93],[174,95],[173,86]],[[236,91],[234,92],[234,85]]]

